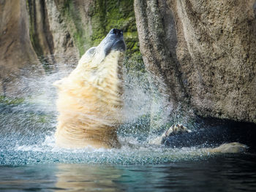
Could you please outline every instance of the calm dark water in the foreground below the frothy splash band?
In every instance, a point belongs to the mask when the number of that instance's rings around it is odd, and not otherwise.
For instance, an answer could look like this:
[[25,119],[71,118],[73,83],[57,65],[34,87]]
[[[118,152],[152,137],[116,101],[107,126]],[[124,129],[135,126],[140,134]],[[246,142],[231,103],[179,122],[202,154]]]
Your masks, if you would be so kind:
[[0,191],[256,191],[256,155],[163,164],[1,165]]

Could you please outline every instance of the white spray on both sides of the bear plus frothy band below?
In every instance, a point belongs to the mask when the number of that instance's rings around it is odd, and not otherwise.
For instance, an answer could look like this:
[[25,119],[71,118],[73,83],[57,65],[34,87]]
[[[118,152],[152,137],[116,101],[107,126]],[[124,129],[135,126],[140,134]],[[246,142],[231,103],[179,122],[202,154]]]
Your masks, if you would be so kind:
[[[13,104],[4,101],[0,103],[0,164],[163,164],[202,158],[203,153],[197,148],[176,149],[146,144],[150,132],[151,112],[162,111],[165,96],[157,94],[156,97],[152,92],[148,74],[130,70],[128,72],[126,68],[126,123],[118,131],[121,149],[94,150],[87,147],[82,150],[65,150],[56,147],[53,137],[57,116],[56,89],[53,88],[53,82],[65,77],[73,68],[72,65],[55,64],[54,70],[45,75],[24,76],[19,82],[15,82],[19,89],[13,91],[12,96],[18,96],[22,90],[23,100]],[[26,70],[30,70],[30,74],[35,74],[34,69]],[[170,110],[172,109],[167,108],[165,112],[170,114]],[[136,147],[131,147],[131,143]]]

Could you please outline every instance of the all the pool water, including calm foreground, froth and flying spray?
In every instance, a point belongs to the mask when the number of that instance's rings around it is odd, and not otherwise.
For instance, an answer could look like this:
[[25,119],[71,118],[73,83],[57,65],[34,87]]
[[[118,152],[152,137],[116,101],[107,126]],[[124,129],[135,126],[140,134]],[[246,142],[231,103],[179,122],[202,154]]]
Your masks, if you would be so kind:
[[[127,83],[130,124],[119,133],[121,149],[56,147],[52,83],[65,74],[24,79],[24,101],[0,102],[0,191],[256,191],[255,153],[212,155],[200,147],[147,145],[152,106],[138,82]],[[155,114],[164,109],[159,103]],[[140,117],[144,121],[131,123]]]

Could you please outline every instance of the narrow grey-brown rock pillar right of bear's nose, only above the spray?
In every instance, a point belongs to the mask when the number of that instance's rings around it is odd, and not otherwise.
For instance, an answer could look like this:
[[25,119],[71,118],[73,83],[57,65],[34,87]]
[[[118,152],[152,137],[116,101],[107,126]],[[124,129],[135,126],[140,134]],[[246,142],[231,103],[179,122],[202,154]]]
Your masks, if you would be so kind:
[[176,30],[173,14],[165,1],[135,1],[140,52],[154,83],[159,84],[170,105],[183,101],[185,91],[176,61]]

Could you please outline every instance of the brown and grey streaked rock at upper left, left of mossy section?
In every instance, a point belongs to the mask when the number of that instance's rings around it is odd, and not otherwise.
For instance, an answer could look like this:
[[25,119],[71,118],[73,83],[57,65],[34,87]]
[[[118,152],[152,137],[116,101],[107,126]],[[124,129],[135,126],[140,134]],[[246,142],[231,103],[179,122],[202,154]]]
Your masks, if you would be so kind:
[[0,4],[1,94],[22,95],[26,88],[22,77],[44,74],[50,64],[78,59],[78,50],[53,1]]

